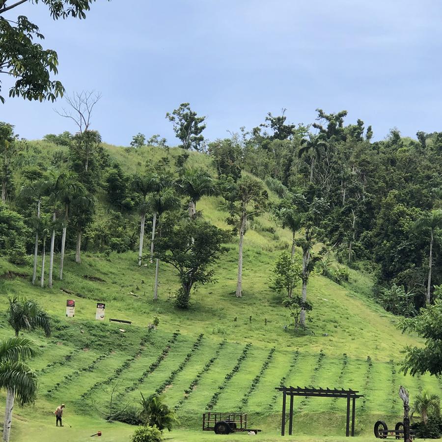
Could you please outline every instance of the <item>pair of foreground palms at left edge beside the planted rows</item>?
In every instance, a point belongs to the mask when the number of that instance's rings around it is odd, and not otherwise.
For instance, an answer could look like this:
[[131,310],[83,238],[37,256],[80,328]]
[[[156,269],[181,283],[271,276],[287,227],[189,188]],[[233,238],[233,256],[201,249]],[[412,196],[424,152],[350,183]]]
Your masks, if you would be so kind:
[[15,336],[0,341],[0,389],[6,390],[3,442],[9,442],[14,402],[28,404],[37,393],[37,376],[26,363],[37,355],[37,350],[30,339],[19,333],[39,328],[47,337],[51,335],[50,318],[34,301],[10,298],[7,314]]

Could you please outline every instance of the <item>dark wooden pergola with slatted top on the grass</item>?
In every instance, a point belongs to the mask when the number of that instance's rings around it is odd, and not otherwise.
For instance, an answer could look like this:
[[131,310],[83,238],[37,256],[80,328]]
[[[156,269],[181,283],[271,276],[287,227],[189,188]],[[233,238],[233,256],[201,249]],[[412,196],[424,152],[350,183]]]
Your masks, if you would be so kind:
[[347,428],[345,436],[350,436],[350,402],[352,402],[352,436],[355,436],[355,412],[356,412],[356,399],[363,397],[363,394],[358,394],[358,391],[348,389],[330,389],[330,388],[307,388],[307,387],[276,387],[276,390],[282,391],[282,422],[281,422],[281,436],[285,435],[285,407],[286,398],[290,396],[289,406],[289,435],[293,430],[293,397],[341,397],[347,399]]

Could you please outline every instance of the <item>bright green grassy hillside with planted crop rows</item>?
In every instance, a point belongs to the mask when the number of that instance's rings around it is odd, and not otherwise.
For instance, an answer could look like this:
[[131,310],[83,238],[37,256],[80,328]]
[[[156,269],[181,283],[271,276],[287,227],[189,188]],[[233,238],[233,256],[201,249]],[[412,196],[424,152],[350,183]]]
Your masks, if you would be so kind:
[[[146,161],[161,155],[159,149],[107,149],[128,170],[142,169]],[[169,153],[176,154],[174,149]],[[192,155],[199,165],[209,165],[207,157]],[[198,210],[226,227],[220,202],[205,197]],[[275,233],[269,232],[269,226],[275,227]],[[34,298],[55,318],[51,339],[32,333],[41,350],[31,362],[38,373],[39,397],[33,406],[15,409],[13,440],[81,441],[102,430],[103,440],[127,441],[133,427],[102,419],[115,385],[123,403],[138,404],[139,391],[163,392],[180,418],[181,429],[167,435],[176,441],[215,438],[197,431],[209,403],[214,411],[249,413],[250,426],[263,430],[256,440],[275,440],[281,407],[275,387],[280,384],[359,390],[365,397],[357,402],[357,433],[370,439],[379,417],[393,427],[400,419],[399,385],[408,387],[412,396],[422,388],[441,393],[436,378],[404,378],[399,372],[401,349],[419,340],[401,334],[395,327],[397,318],[369,298],[372,281],[367,275],[350,270],[350,281],[342,286],[312,276],[309,334],[286,331],[288,311],[269,289],[269,278],[289,238],[268,216],[259,218],[245,237],[243,298],[234,296],[237,245],[230,244],[216,266],[218,281],[198,287],[189,311],[174,308],[170,296],[177,278],[166,265],[160,267],[159,300],[152,300],[154,264],[138,268],[135,251],[109,256],[85,253],[80,265],[70,251],[64,279],[55,281],[52,289],[30,284],[30,266],[0,260],[0,336],[12,334],[5,322],[6,294]],[[56,257],[55,275],[57,264]],[[75,318],[65,317],[67,298],[76,300]],[[106,303],[104,322],[94,320],[98,301]],[[148,332],[154,316],[160,325]],[[132,324],[110,323],[109,318]],[[246,357],[240,358],[242,354]],[[235,366],[238,369],[232,372]],[[225,380],[230,372],[233,375]],[[72,428],[55,429],[52,412],[61,402],[66,404],[65,422]],[[306,441],[327,435],[341,440],[338,436],[345,434],[345,401],[295,399],[295,411],[295,434],[310,435]],[[37,428],[44,431],[36,432]],[[63,439],[60,431],[65,432]],[[229,436],[229,440],[237,439]]]

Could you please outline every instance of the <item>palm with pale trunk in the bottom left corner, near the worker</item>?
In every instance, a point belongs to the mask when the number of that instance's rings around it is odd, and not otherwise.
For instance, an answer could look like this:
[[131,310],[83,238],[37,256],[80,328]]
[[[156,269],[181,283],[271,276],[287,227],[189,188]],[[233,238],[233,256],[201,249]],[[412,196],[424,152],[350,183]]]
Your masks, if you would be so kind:
[[3,442],[9,442],[14,400],[25,405],[35,399],[37,376],[24,361],[36,354],[32,341],[24,337],[0,341],[0,388],[6,390]]

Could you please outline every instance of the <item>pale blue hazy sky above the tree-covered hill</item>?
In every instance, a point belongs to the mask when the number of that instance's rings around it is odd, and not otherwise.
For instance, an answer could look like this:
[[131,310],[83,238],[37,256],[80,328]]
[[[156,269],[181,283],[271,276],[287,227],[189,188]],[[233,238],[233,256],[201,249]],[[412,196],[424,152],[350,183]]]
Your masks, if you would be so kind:
[[[112,144],[138,132],[177,144],[165,114],[182,102],[207,115],[209,139],[281,108],[294,123],[346,109],[375,139],[442,131],[439,0],[97,0],[86,20],[58,22],[43,4],[11,12],[39,25],[68,93],[102,93],[91,128]],[[8,98],[0,120],[30,139],[75,132],[62,106]]]

